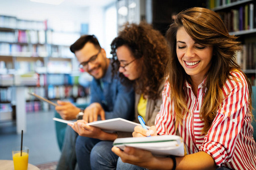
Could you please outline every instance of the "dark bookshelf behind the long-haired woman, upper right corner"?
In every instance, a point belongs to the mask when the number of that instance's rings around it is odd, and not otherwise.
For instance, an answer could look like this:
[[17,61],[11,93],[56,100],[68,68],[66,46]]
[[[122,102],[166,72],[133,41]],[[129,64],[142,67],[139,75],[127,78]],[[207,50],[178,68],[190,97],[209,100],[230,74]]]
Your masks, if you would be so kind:
[[230,35],[242,42],[237,63],[256,86],[256,3],[253,0],[208,0],[207,7],[216,11]]

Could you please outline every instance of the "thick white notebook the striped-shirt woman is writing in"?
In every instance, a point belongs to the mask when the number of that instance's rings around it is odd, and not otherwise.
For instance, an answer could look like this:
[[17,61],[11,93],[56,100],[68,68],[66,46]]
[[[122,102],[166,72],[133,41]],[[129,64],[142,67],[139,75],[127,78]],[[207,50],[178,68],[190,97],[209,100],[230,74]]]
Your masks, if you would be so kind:
[[184,143],[182,139],[176,135],[117,138],[115,139],[113,145],[121,148],[121,150],[123,150],[125,146],[147,150],[156,156],[184,156]]

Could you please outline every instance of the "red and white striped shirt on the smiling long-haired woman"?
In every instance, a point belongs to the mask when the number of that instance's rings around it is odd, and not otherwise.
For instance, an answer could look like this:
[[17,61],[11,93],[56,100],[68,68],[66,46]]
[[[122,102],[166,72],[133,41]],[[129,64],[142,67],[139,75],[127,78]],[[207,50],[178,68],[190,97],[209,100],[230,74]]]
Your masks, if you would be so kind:
[[[207,135],[201,135],[204,122],[199,118],[203,104],[204,82],[198,87],[197,97],[193,94],[191,85],[188,82],[185,84],[189,113],[185,114],[183,125],[178,124],[177,130],[183,138],[188,154],[204,151],[212,156],[218,167],[256,169],[256,143],[253,139],[253,126],[250,123],[248,86],[242,73],[231,74],[240,80],[226,80],[222,88],[225,99]],[[170,92],[170,86],[166,82],[163,104],[155,120],[160,135],[177,135],[174,101],[170,98]]]

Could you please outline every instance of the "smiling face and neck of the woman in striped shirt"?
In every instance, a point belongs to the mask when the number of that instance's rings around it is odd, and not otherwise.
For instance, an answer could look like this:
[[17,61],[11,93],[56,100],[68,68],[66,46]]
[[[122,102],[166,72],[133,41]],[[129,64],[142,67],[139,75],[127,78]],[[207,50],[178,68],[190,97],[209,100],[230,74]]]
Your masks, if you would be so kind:
[[[195,42],[184,27],[177,30],[177,58],[185,72],[191,77],[193,87],[198,87],[205,79],[210,69],[212,52],[212,45],[201,45]],[[193,93],[197,96],[197,88],[193,88]]]

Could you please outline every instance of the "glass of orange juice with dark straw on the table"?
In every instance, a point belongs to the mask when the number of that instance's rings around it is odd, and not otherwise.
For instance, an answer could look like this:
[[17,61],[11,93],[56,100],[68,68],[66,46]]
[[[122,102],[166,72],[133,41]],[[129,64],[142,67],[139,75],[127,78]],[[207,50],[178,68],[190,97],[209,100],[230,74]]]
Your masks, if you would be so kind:
[[27,170],[28,147],[23,146],[22,151],[20,149],[20,147],[13,149],[14,170]]

